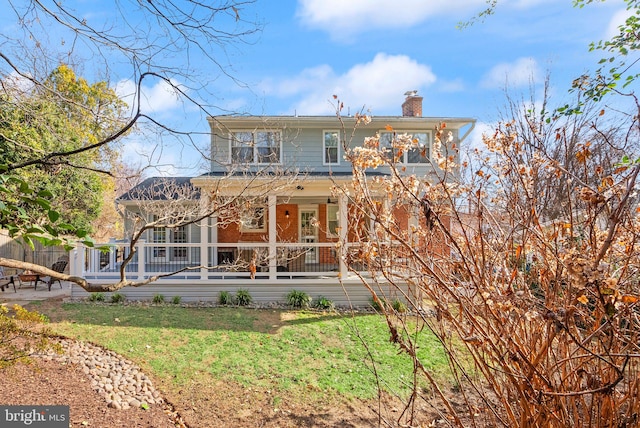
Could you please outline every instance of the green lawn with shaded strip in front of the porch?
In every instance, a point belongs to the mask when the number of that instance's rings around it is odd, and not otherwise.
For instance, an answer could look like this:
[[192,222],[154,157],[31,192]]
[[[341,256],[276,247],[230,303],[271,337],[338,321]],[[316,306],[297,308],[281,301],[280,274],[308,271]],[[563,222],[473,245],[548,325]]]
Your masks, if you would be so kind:
[[[211,382],[367,399],[377,394],[371,356],[386,390],[406,392],[412,377],[410,359],[389,343],[379,315],[87,304],[64,304],[47,315],[55,332],[112,349],[175,387],[210,376]],[[419,343],[422,363],[446,379],[438,342],[422,332]]]

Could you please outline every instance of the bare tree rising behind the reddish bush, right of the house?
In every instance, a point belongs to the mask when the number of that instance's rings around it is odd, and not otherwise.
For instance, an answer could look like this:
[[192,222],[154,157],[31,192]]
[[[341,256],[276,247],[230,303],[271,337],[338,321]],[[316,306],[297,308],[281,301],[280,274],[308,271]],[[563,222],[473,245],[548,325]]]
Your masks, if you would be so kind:
[[[518,165],[536,165],[536,157],[543,157],[555,168],[538,168],[532,171],[533,194],[536,195],[536,212],[542,221],[567,217],[575,208],[569,204],[567,195],[580,188],[578,180],[572,176],[591,174],[590,180],[605,177],[616,168],[615,164],[627,153],[638,151],[638,141],[627,138],[625,117],[609,111],[605,114],[602,106],[592,100],[581,100],[576,93],[571,105],[581,105],[580,114],[565,114],[550,106],[550,77],[547,76],[540,99],[532,88],[530,98],[516,98],[506,91],[506,106],[500,112],[500,133],[518,135],[522,152],[514,159],[513,168]],[[569,104],[567,104],[568,106]],[[587,150],[586,159],[576,156]],[[557,168],[557,169],[556,169]],[[568,177],[557,180],[557,170]],[[586,170],[586,171],[585,171]],[[507,183],[505,183],[507,184]]]

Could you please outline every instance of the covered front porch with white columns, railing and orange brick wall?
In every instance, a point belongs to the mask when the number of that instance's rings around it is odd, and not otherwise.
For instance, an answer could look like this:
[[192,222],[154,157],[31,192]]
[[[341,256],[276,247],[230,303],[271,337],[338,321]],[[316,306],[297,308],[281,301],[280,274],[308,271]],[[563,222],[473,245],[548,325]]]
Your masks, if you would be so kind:
[[[194,184],[205,190],[203,194],[212,186],[211,181]],[[168,233],[151,233],[136,245],[132,261],[125,266],[127,278],[144,280],[180,272],[138,289],[122,290],[123,294],[150,299],[153,295],[147,295],[157,288],[165,296],[216,300],[222,290],[248,288],[257,301],[273,302],[282,301],[291,289],[306,289],[312,297],[354,303],[345,296],[344,287],[348,287],[356,297],[354,304],[368,304],[370,293],[358,276],[369,275],[368,270],[361,266],[357,274],[349,272],[346,261],[355,260],[362,247],[353,242],[350,230],[370,225],[350,224],[347,198],[331,194],[334,184],[326,178],[313,179],[269,192],[262,205],[250,207],[257,214],[246,223],[242,218],[229,222],[208,217],[192,225],[194,231],[182,242],[168,242]],[[226,187],[228,194],[235,191]],[[107,246],[108,252],[89,248],[73,252],[72,274],[97,284],[119,279],[122,262],[131,251],[129,243]],[[403,258],[399,252],[393,257]],[[353,268],[353,262],[350,265]],[[74,287],[72,295],[86,293]]]

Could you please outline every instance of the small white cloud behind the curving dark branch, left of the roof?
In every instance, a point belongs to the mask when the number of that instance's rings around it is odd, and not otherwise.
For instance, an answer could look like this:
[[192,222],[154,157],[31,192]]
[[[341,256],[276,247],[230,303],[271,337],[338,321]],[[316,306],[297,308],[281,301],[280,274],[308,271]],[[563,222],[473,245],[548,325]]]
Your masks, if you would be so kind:
[[[180,87],[179,83],[172,84]],[[116,93],[124,99],[129,107],[137,105],[136,84],[130,80],[121,80],[116,84]],[[159,80],[153,86],[142,85],[140,96],[140,109],[145,114],[165,113],[182,106],[180,93],[176,88],[164,80]]]

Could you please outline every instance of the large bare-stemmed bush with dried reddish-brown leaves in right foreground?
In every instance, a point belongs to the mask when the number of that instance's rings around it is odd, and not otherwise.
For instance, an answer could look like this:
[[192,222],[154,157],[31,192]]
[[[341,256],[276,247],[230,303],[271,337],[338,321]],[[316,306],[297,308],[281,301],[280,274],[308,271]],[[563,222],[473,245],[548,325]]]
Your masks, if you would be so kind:
[[[410,310],[378,305],[391,340],[414,359],[399,425],[434,398],[450,426],[640,424],[640,162],[624,155],[638,123],[612,137],[599,116],[580,135],[571,120],[526,121],[530,135],[549,134],[539,145],[502,123],[467,164],[443,123],[423,177],[399,162],[418,144],[410,135],[391,147],[379,135],[345,144],[353,180],[336,192],[348,195],[355,223],[372,226],[351,230],[362,246],[342,255],[354,274],[369,271],[361,279],[374,299]],[[413,221],[401,224],[398,210]],[[422,365],[413,340],[422,328],[446,349],[463,410]]]

